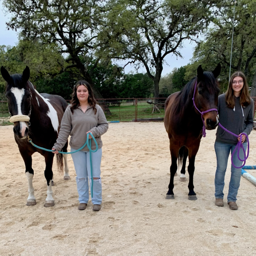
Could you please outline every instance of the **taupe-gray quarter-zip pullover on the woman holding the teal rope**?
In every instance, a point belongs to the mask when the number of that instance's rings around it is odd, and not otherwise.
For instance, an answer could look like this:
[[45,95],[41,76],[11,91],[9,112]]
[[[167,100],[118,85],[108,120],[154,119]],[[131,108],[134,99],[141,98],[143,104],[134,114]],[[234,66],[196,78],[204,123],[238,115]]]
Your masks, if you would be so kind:
[[[78,150],[87,140],[87,132],[91,131],[95,140],[97,141],[98,148],[102,147],[101,135],[103,135],[109,129],[109,124],[106,121],[103,110],[99,105],[95,106],[97,113],[92,106],[86,110],[85,113],[79,106],[74,110],[72,114],[70,106],[67,107],[60,124],[59,135],[54,148],[57,151],[61,151],[62,147],[67,142],[69,135],[70,146],[74,150]],[[95,150],[96,145],[92,139],[92,150]],[[81,151],[89,151],[88,147],[85,146]]]

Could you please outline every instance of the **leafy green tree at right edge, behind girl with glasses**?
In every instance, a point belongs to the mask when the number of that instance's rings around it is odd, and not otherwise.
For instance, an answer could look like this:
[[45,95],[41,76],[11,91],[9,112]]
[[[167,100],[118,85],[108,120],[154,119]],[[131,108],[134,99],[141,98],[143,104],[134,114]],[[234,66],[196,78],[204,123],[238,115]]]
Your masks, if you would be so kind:
[[243,71],[249,84],[252,85],[251,95],[256,96],[256,2],[238,1],[234,19],[234,5],[230,3],[230,1],[221,1],[216,11],[212,12],[211,29],[204,35],[206,40],[201,40],[196,47],[191,66],[187,68],[186,77],[195,74],[199,64],[202,64],[204,69],[214,70],[220,62],[221,92],[226,90],[234,24],[231,74],[238,70]]

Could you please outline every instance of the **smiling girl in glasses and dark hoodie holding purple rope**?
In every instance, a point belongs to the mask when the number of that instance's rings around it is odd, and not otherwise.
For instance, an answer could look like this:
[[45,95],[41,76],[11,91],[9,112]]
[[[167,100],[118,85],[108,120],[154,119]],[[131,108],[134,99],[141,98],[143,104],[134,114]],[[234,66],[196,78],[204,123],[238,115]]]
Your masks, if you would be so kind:
[[[240,135],[241,133],[250,134],[253,128],[253,111],[254,104],[250,98],[248,85],[245,75],[241,72],[232,74],[227,92],[218,98],[218,112],[220,123],[230,132]],[[223,188],[224,178],[227,169],[228,157],[233,153],[240,136],[238,138],[225,132],[218,126],[215,141],[215,152],[217,157],[217,169],[215,174],[215,204],[224,206]],[[245,135],[242,135],[242,143],[246,150],[247,141]],[[244,159],[244,152],[240,150],[240,159]],[[237,151],[233,156],[233,163],[241,166],[242,162],[238,159]],[[237,194],[240,186],[241,168],[235,168],[231,165],[231,178],[229,181],[229,189],[227,202],[229,208],[237,210]]]

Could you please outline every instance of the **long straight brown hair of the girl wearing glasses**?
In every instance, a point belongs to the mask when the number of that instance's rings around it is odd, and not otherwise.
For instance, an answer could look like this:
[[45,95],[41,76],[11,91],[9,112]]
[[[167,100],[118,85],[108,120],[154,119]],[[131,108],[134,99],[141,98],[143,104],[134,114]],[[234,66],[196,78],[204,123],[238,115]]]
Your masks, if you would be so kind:
[[226,99],[228,108],[231,108],[231,109],[234,108],[234,91],[232,89],[232,82],[233,82],[233,79],[237,76],[241,76],[244,81],[244,86],[240,92],[240,104],[242,106],[248,106],[251,103],[246,77],[243,72],[237,71],[231,75],[229,83],[228,83],[228,89],[226,91],[225,99]]

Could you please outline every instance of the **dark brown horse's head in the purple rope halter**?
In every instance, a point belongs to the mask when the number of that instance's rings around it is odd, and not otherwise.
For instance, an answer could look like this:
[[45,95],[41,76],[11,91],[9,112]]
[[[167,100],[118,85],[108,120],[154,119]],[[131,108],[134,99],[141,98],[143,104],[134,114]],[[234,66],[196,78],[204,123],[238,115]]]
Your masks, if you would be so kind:
[[[200,65],[197,69],[197,88],[195,89],[195,104],[200,112],[217,109],[218,87],[217,77],[220,75],[221,65],[217,65],[214,71],[204,72]],[[219,123],[217,111],[203,114],[203,122],[207,130],[213,130]]]

